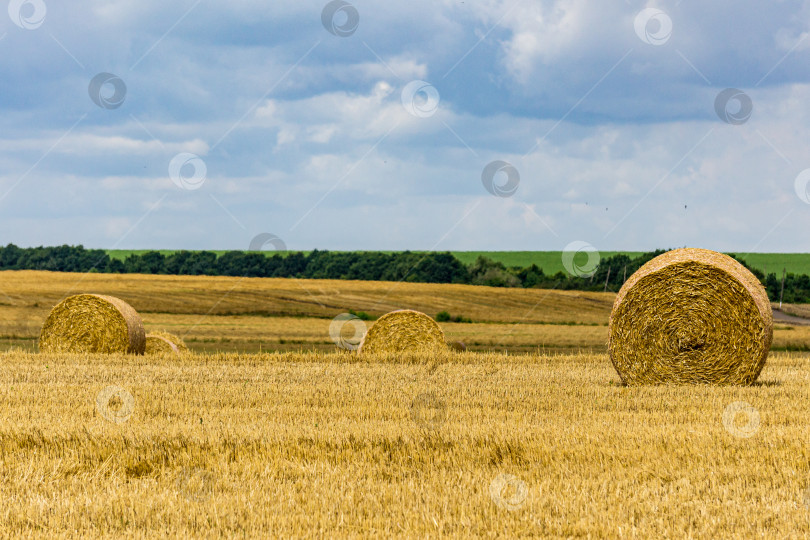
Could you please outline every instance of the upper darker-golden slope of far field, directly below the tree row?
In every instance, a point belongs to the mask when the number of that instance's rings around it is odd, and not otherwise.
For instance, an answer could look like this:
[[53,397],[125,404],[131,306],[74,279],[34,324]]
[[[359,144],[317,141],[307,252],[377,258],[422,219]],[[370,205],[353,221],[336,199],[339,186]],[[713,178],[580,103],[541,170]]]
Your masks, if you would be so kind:
[[[477,322],[581,322],[603,324],[614,295],[580,291],[493,289],[473,285],[263,279],[139,274],[72,274],[32,270],[0,272],[0,306],[36,318],[79,292],[128,302],[141,315],[287,315],[332,318],[354,309],[380,316],[415,309],[442,310]],[[44,320],[44,318],[43,318]]]

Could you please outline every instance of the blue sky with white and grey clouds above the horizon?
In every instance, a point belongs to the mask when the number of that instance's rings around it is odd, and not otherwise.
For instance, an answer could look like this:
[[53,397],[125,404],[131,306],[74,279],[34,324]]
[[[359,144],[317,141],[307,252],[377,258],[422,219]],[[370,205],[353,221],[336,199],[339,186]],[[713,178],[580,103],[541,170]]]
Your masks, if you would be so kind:
[[2,244],[810,251],[810,1],[7,3]]

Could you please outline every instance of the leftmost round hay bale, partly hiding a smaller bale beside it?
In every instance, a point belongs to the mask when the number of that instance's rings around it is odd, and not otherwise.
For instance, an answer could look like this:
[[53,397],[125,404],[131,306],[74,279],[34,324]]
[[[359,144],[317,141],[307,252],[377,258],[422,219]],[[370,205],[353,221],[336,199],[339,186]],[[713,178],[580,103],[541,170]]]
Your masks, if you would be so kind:
[[78,294],[51,310],[39,336],[40,352],[143,354],[141,316],[113,296]]

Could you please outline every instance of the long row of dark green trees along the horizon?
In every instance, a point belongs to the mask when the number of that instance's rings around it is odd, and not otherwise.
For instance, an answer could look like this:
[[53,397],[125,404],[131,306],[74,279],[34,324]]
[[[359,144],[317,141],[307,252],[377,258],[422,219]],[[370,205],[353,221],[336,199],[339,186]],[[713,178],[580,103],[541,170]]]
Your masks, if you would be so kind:
[[[82,246],[20,248],[0,247],[0,269],[52,270],[57,272],[104,272],[174,275],[218,275],[246,277],[296,277],[302,279],[358,279],[367,281],[410,281],[421,283],[465,283],[491,287],[524,287],[563,290],[618,291],[625,279],[644,263],[664,253],[658,250],[630,258],[614,255],[600,261],[585,277],[565,272],[546,274],[536,265],[506,267],[479,257],[464,264],[449,252],[381,253],[375,251],[333,252],[315,250],[304,254],[228,251],[158,251],[133,254],[125,260],[111,258],[99,249]],[[733,255],[732,255],[733,256]],[[740,261],[745,265],[744,261]],[[747,265],[746,265],[747,267]],[[750,268],[749,268],[750,269]],[[787,274],[784,291],[781,276],[751,270],[765,285],[771,300],[780,295],[788,303],[810,302],[810,277]]]

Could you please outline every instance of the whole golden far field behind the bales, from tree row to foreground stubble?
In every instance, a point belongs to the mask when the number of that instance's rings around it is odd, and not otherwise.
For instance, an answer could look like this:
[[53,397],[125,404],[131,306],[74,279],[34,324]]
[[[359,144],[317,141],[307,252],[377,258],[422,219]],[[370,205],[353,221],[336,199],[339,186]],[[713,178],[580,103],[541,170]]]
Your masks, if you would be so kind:
[[[604,352],[615,298],[611,293],[418,283],[35,271],[0,276],[0,350],[36,350],[35,338],[51,307],[66,295],[94,291],[126,300],[147,328],[172,332],[197,352],[334,351],[329,325],[339,313],[354,309],[379,315],[413,307],[477,321],[441,323],[448,341],[463,341],[473,351]],[[375,303],[378,311],[369,307]],[[773,349],[810,350],[810,326],[777,323]]]

